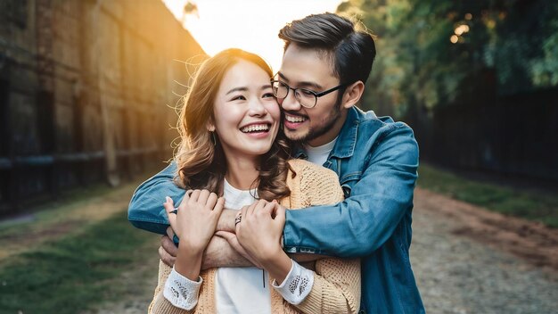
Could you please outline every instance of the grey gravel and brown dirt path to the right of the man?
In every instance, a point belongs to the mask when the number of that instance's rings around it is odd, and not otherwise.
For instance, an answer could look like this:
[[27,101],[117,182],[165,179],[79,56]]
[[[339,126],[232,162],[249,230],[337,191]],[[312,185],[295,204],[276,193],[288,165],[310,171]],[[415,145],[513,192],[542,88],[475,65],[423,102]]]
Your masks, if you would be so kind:
[[558,231],[417,189],[411,261],[429,313],[555,313]]

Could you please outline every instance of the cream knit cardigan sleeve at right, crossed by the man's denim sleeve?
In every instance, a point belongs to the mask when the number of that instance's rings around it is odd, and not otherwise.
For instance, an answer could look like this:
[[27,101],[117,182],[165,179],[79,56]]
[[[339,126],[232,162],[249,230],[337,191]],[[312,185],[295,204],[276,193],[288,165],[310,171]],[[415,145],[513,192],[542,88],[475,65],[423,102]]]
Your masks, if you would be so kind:
[[[300,175],[300,202],[291,198],[294,208],[333,204],[343,201],[339,178],[329,169],[308,161],[294,167]],[[296,184],[294,185],[296,187]],[[360,307],[360,260],[329,258],[316,260],[314,284],[303,302],[294,305],[304,313],[357,313]]]

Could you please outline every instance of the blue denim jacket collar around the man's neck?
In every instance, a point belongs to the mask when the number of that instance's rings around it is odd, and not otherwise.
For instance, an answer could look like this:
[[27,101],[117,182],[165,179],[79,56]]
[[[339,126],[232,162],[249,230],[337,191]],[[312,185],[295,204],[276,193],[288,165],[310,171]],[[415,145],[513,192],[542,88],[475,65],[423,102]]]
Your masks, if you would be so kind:
[[[347,112],[347,119],[345,123],[343,123],[343,127],[341,128],[341,132],[339,132],[337,142],[335,142],[335,146],[333,146],[330,157],[349,158],[355,153],[358,125],[360,123],[358,111],[359,109],[357,109],[357,107],[351,107],[349,112]],[[297,147],[293,149],[293,157],[308,159],[307,154],[300,145],[297,145]]]

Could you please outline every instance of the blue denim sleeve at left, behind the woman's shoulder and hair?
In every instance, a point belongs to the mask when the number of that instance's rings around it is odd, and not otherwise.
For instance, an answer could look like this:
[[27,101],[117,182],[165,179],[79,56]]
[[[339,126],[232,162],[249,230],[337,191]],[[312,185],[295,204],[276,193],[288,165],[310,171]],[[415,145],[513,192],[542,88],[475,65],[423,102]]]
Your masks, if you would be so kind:
[[168,227],[167,213],[163,208],[165,196],[172,198],[177,206],[185,194],[184,189],[176,186],[175,175],[176,163],[173,161],[135,189],[127,209],[127,219],[132,225],[165,235]]

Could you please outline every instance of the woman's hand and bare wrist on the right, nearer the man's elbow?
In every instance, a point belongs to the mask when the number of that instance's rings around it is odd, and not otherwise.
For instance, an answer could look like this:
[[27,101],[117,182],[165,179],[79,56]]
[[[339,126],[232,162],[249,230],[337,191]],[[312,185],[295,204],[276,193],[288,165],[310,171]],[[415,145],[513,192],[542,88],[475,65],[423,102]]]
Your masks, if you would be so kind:
[[240,222],[236,223],[238,242],[271,277],[283,282],[292,265],[281,247],[285,208],[275,201],[259,200],[244,206],[240,216]]

